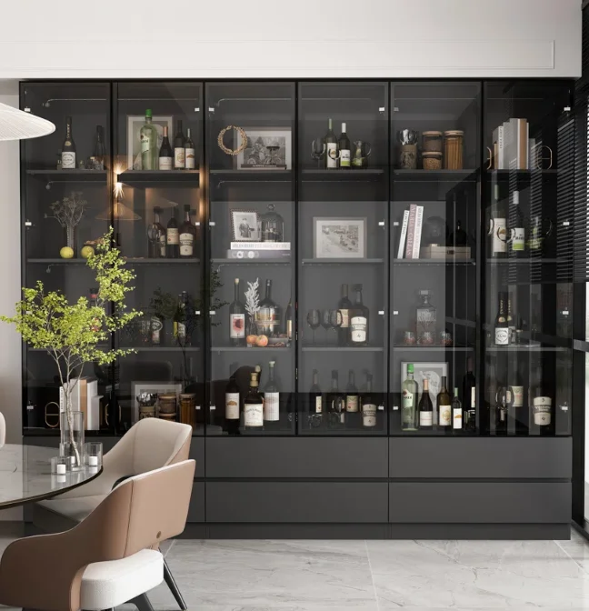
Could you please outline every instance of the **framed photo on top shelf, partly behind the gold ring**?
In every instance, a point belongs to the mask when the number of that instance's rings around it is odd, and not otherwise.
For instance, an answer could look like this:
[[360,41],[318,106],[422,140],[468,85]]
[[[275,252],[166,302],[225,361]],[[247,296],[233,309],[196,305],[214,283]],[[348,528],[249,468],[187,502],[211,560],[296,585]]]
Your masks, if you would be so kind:
[[[244,127],[247,145],[235,155],[237,170],[290,170],[293,167],[293,139],[289,127]],[[241,136],[235,132],[235,148]]]

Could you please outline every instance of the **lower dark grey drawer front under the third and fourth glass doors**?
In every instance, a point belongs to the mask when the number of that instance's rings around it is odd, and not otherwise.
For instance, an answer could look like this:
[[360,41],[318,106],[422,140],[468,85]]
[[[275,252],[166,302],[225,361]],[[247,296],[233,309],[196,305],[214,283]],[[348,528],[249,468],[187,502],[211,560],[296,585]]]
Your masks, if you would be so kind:
[[207,522],[385,523],[387,485],[362,482],[207,482]]

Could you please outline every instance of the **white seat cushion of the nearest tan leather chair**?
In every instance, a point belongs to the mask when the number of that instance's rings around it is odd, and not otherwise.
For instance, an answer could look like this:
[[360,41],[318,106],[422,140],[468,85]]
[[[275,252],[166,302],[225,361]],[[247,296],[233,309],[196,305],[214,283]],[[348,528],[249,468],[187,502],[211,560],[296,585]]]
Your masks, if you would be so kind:
[[122,560],[95,562],[86,567],[82,577],[81,608],[97,610],[123,605],[162,581],[164,556],[153,549]]

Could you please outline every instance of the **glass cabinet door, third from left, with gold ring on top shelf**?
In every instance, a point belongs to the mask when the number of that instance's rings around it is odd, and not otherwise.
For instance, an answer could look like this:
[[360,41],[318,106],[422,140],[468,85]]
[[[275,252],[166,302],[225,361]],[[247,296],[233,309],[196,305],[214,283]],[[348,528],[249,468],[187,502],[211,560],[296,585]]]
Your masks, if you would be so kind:
[[206,85],[207,435],[295,433],[295,85]]

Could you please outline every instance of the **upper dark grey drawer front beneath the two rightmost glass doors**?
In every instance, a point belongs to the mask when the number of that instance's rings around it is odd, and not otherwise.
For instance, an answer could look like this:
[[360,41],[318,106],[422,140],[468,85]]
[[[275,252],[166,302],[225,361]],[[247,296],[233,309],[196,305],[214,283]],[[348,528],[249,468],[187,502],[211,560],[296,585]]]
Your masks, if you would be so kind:
[[572,447],[570,437],[395,437],[390,476],[571,479]]

